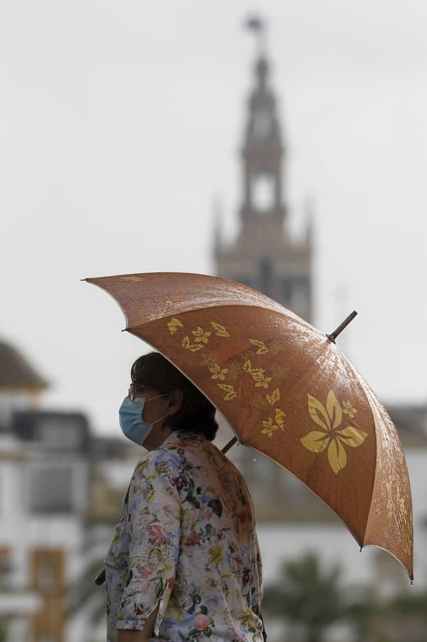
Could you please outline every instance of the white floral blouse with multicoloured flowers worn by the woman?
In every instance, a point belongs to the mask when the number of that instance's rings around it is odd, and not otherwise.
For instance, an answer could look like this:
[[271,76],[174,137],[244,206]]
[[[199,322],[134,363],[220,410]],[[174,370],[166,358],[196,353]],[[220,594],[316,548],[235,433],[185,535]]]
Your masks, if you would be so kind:
[[173,432],[135,466],[104,560],[107,642],[160,608],[161,642],[262,642],[254,509],[209,439]]

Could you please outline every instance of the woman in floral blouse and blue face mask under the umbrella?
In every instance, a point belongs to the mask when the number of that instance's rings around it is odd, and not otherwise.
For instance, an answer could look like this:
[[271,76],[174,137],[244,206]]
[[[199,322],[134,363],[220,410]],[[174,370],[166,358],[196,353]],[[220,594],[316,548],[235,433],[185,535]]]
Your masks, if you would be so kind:
[[158,352],[131,379],[120,427],[148,453],[104,560],[108,642],[262,642],[254,510],[215,407]]

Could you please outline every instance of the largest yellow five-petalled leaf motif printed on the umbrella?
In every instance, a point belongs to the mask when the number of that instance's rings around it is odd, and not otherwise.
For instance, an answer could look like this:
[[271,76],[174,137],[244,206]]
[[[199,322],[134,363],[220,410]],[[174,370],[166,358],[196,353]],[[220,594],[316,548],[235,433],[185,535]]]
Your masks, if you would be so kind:
[[[326,409],[311,394],[307,394],[307,397],[309,415],[322,430],[309,432],[301,439],[302,445],[315,453],[323,452],[327,447],[329,465],[337,474],[347,463],[344,446],[359,447],[368,435],[355,426],[347,426],[338,430],[342,422],[342,409],[332,389],[329,390],[326,397]],[[354,410],[354,412],[356,411]]]

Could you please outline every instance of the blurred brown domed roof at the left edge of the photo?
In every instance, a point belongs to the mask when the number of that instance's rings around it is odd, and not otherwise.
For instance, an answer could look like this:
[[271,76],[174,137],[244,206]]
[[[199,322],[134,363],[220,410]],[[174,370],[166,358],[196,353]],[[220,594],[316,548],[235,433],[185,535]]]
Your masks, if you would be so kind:
[[47,386],[19,350],[0,341],[0,389],[41,390]]

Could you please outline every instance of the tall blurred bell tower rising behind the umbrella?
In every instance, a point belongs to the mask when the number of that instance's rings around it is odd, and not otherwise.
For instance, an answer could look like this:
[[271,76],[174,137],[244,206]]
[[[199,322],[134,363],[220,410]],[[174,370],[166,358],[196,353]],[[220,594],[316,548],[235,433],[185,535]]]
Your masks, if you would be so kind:
[[256,36],[257,54],[240,157],[240,229],[230,243],[217,230],[217,275],[254,287],[311,322],[311,218],[304,238],[294,238],[284,183],[286,146],[272,88],[265,24],[259,18],[246,24]]

